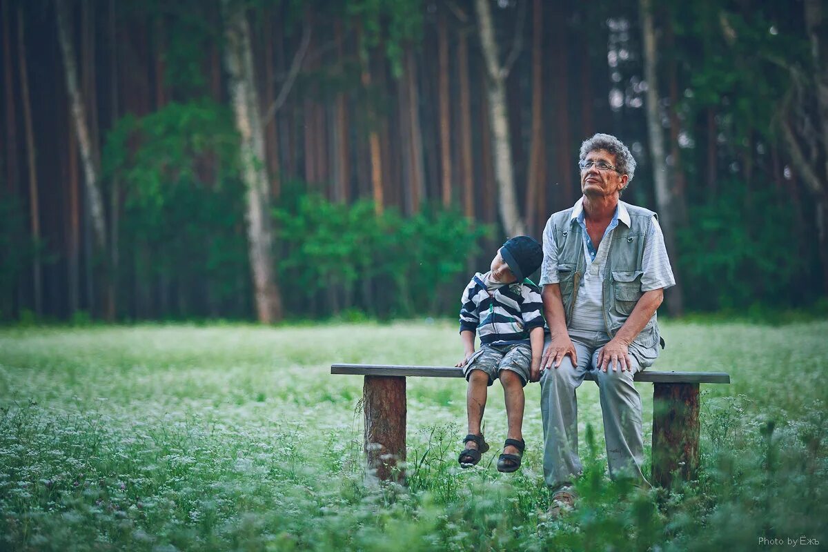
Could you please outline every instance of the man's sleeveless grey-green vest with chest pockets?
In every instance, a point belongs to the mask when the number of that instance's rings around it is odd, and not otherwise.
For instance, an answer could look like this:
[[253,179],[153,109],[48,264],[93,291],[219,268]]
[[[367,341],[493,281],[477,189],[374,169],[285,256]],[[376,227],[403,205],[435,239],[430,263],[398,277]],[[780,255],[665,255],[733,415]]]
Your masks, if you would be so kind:
[[[651,210],[624,203],[630,218],[630,228],[619,222],[609,243],[606,270],[602,281],[601,297],[604,325],[607,334],[615,333],[633,312],[636,303],[643,295],[641,276],[643,276],[642,259],[644,245],[650,235],[650,221],[655,215]],[[555,235],[558,249],[558,277],[561,283],[561,299],[564,303],[566,326],[572,319],[578,286],[584,278],[586,259],[584,257],[584,232],[577,220],[572,218],[572,209],[553,214],[550,218],[551,229]],[[660,341],[656,314],[636,336],[633,348],[649,359],[657,357],[657,343]]]

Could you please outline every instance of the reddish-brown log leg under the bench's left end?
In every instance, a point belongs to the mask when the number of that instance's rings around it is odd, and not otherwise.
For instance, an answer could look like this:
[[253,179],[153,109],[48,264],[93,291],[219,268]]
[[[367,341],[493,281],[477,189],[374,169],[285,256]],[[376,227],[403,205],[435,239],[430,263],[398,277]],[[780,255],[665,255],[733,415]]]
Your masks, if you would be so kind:
[[382,481],[404,482],[402,469],[395,468],[406,459],[406,378],[366,376],[363,412],[368,473]]

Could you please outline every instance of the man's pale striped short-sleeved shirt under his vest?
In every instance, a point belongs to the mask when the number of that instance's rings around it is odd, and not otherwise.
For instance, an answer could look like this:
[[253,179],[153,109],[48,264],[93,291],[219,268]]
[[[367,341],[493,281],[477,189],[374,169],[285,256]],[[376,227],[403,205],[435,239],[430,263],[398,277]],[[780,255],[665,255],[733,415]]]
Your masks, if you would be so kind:
[[[623,201],[619,201],[613,220],[607,226],[604,237],[601,238],[597,249],[586,232],[583,197],[575,203],[570,220],[577,221],[584,230],[584,257],[586,261],[586,271],[584,278],[580,281],[580,289],[575,298],[570,328],[602,331],[604,329],[604,314],[601,282],[606,274],[609,243],[612,242],[614,230],[619,223],[623,223],[629,228],[631,223],[629,212]],[[644,272],[641,276],[642,292],[675,286],[676,278],[672,273],[670,259],[667,257],[667,247],[664,246],[664,235],[662,234],[662,228],[658,225],[657,218],[652,217],[647,234],[650,238],[645,243],[642,256],[642,270]],[[547,224],[543,233],[541,285],[556,284],[559,281],[558,248],[555,233],[551,225]]]

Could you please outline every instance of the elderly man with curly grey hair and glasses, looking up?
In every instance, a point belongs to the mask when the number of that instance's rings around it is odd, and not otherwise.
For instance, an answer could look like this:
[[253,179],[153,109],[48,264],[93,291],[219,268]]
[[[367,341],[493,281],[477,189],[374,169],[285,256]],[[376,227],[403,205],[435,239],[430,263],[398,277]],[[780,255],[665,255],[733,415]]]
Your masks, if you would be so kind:
[[543,472],[549,513],[570,509],[578,458],[575,389],[588,370],[598,382],[609,473],[635,478],[644,460],[641,397],[633,375],[662,344],[656,310],[675,285],[656,214],[620,201],[635,160],[618,138],[596,134],[580,146],[583,197],[553,214],[543,232],[543,310],[551,331],[541,369]]

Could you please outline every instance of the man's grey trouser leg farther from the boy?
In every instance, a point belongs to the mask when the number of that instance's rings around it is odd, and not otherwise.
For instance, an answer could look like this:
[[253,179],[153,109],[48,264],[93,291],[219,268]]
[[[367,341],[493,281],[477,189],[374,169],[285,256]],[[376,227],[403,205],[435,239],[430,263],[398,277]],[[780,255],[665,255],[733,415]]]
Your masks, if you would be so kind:
[[[597,366],[598,353],[593,355]],[[607,462],[612,478],[628,476],[648,487],[641,468],[644,463],[644,440],[641,422],[641,396],[633,385],[633,376],[641,370],[636,358],[629,355],[630,371],[613,371],[612,366],[602,372],[596,368],[601,415],[604,418],[604,439],[607,442]]]

